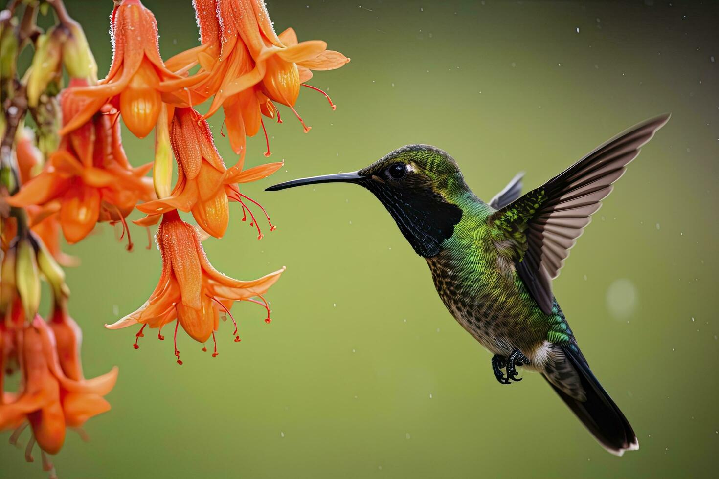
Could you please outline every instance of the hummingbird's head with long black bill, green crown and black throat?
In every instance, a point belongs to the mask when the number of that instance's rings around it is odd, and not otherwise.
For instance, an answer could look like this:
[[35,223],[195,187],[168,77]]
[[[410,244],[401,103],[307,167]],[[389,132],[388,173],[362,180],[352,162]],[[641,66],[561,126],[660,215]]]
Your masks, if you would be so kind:
[[414,251],[426,258],[439,254],[452,236],[462,220],[459,203],[470,192],[454,158],[426,144],[395,149],[356,172],[292,180],[267,191],[329,182],[355,183],[374,193]]

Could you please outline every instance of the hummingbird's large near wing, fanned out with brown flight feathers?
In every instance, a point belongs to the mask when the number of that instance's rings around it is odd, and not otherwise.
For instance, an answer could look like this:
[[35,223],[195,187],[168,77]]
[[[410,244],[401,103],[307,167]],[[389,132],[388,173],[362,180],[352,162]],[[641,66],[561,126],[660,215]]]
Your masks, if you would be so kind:
[[626,165],[667,121],[668,114],[633,126],[490,216],[497,247],[509,250],[519,276],[546,314],[554,299],[551,280],[559,276],[569,249]]

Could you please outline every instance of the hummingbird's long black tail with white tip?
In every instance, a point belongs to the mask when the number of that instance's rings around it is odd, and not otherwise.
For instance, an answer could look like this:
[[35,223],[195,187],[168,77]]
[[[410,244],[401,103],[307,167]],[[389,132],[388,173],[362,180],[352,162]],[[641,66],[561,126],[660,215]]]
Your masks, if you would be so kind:
[[582,424],[606,450],[620,456],[626,450],[639,449],[639,443],[631,425],[607,391],[597,381],[582,353],[569,347],[562,347],[562,350],[566,360],[574,366],[580,377],[586,399],[585,401],[575,399],[552,384],[543,375],[549,385],[554,391],[557,391],[559,397],[569,406],[569,409],[572,409]]

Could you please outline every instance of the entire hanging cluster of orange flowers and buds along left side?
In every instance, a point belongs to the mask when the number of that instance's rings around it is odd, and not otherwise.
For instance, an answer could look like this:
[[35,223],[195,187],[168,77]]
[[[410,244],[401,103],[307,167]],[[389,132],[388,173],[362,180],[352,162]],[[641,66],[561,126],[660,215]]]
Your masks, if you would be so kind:
[[[306,81],[312,70],[332,70],[349,62],[325,42],[298,42],[293,29],[275,34],[261,0],[193,0],[200,42],[167,61],[160,55],[157,21],[139,0],[114,0],[110,16],[113,59],[105,78],[97,67],[81,26],[68,16],[62,0],[11,0],[0,12],[0,430],[11,430],[18,444],[30,429],[25,457],[32,462],[37,444],[50,476],[50,455],[63,446],[65,430],[83,437],[87,419],[110,409],[104,399],[117,369],[98,378],[82,373],[81,329],[68,312],[69,289],[62,266],[78,259],[60,248],[60,236],[77,243],[98,223],[122,225],[131,250],[128,216],[150,228],[162,271],[155,291],[137,311],[106,325],[138,325],[134,348],[145,327],[174,322],[174,353],[180,361],[177,332],[193,340],[211,338],[219,320],[232,315],[235,302],[260,305],[270,322],[268,289],[284,268],[259,279],[240,281],[222,274],[207,259],[203,238],[224,236],[231,203],[242,221],[249,215],[262,238],[252,208],[265,209],[241,185],[261,180],[282,162],[244,167],[246,138],[265,133],[264,118],[280,120],[279,105],[296,111],[301,86],[326,93]],[[49,7],[49,8],[48,8]],[[42,32],[39,13],[53,12],[55,26]],[[35,50],[31,66],[19,75],[17,58]],[[63,89],[63,75],[69,83]],[[209,101],[205,113],[195,107]],[[224,111],[229,144],[237,161],[227,166],[214,144],[206,119]],[[25,126],[32,117],[33,129]],[[155,131],[155,160],[134,165],[122,147],[121,120],[134,136]],[[173,176],[173,158],[177,176]],[[152,170],[152,177],[147,176]],[[186,223],[180,212],[194,220]],[[50,285],[52,307],[40,316],[41,280]],[[203,350],[206,347],[203,346]],[[17,374],[15,388],[7,386]]]

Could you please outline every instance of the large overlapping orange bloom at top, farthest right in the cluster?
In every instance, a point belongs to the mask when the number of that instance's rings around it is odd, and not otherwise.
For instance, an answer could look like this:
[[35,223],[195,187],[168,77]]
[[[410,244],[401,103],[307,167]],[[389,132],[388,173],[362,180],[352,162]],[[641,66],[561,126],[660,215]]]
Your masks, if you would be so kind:
[[[261,114],[280,120],[273,101],[279,101],[294,111],[300,85],[312,77],[311,70],[334,70],[349,58],[342,53],[326,50],[320,40],[298,43],[293,29],[276,35],[265,4],[249,0],[196,0],[193,2],[200,27],[202,47],[183,52],[168,60],[179,69],[188,63],[201,65],[201,73],[208,76],[193,85],[192,103],[215,96],[208,113],[212,116],[220,106],[224,108],[230,144],[241,154],[245,136],[255,136]],[[192,59],[196,59],[194,62]],[[334,103],[319,88],[329,101]],[[297,112],[295,111],[296,115]],[[297,115],[305,128],[302,118]],[[267,152],[270,145],[267,140]]]

